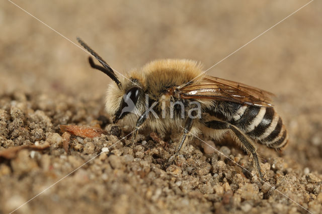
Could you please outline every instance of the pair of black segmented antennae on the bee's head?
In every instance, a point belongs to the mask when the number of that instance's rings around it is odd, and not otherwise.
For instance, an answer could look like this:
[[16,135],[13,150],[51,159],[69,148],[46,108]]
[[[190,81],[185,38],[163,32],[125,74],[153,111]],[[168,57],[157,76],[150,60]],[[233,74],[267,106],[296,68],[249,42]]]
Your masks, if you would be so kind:
[[109,66],[109,64],[107,64],[104,61],[104,59],[102,59],[102,57],[100,57],[100,55],[98,55],[92,48],[90,48],[90,46],[88,46],[81,38],[77,37],[77,41],[103,65],[103,67],[102,67],[100,65],[95,64],[93,58],[90,56],[89,62],[90,62],[91,67],[98,69],[98,70],[102,71],[103,73],[105,73],[106,75],[108,75],[117,84],[118,87],[121,87],[121,82],[119,81],[119,79],[117,78],[113,69]]

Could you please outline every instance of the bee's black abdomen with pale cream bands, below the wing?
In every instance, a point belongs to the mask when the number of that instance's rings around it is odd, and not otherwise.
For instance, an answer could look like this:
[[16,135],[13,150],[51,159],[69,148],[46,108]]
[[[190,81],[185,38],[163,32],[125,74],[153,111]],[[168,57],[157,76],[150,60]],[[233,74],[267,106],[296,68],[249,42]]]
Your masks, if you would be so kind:
[[288,143],[285,126],[273,108],[239,105],[229,122],[270,148],[282,149]]

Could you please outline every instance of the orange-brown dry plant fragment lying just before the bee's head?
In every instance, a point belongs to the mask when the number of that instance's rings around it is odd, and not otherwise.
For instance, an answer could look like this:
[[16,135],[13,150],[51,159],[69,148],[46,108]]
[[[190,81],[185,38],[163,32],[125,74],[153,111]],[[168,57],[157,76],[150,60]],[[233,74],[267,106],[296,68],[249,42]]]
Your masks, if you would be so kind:
[[60,130],[83,138],[95,138],[101,136],[101,134],[106,134],[104,130],[99,128],[87,128],[75,125],[60,125]]

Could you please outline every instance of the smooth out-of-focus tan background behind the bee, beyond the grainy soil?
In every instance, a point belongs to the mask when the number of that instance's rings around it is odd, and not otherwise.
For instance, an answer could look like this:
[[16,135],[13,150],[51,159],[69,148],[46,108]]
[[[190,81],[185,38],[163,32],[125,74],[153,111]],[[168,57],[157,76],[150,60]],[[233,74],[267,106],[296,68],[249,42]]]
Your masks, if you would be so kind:
[[[162,58],[208,69],[307,2],[14,1],[72,42],[81,37],[120,73]],[[319,172],[321,14],[313,1],[208,71],[275,93],[290,130],[285,153]],[[9,1],[0,3],[0,29],[0,95],[104,96],[111,80],[90,68],[88,54]]]

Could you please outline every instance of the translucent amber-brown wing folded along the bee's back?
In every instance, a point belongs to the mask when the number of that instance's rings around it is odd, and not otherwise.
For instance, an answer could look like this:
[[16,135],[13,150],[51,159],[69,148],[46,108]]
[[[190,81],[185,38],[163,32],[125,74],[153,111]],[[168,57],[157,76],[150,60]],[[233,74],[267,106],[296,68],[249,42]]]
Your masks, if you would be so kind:
[[272,107],[271,97],[274,94],[243,83],[205,76],[198,84],[180,88],[180,96],[185,99],[206,98]]

